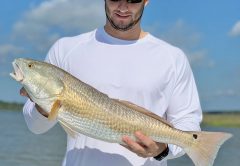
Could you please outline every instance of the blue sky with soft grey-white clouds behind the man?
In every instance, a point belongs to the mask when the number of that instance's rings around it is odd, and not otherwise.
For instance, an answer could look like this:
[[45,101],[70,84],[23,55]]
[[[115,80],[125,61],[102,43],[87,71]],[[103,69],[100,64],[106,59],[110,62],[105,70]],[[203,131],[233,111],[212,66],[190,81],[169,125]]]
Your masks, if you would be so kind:
[[[203,110],[240,110],[240,1],[150,0],[142,28],[182,49]],[[18,57],[43,60],[61,37],[105,24],[103,0],[1,0],[0,100],[24,102],[9,77]]]

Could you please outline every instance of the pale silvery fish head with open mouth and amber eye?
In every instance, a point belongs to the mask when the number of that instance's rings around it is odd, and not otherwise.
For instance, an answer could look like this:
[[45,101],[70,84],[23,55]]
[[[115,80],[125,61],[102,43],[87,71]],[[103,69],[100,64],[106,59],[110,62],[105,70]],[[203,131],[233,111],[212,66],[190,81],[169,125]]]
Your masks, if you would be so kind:
[[25,58],[15,59],[12,65],[10,76],[23,85],[35,103],[53,101],[64,89],[64,72],[54,65]]

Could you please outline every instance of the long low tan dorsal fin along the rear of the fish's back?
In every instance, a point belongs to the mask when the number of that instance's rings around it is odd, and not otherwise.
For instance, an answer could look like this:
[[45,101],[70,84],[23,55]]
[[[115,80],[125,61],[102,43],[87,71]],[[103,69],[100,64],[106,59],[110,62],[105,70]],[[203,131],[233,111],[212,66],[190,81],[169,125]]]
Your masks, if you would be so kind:
[[118,100],[118,99],[113,99],[113,100],[118,102],[118,103],[120,103],[120,104],[123,104],[124,106],[126,106],[128,108],[131,108],[131,109],[133,109],[135,111],[138,111],[138,112],[140,112],[142,114],[150,116],[150,117],[152,117],[152,118],[154,118],[154,119],[156,119],[158,121],[161,121],[161,122],[167,124],[170,127],[173,127],[173,125],[171,123],[169,123],[168,121],[166,121],[162,117],[158,116],[157,114],[154,114],[153,112],[148,111],[147,109],[145,109],[143,107],[140,107],[140,106],[138,106],[136,104],[133,104],[133,103],[125,101],[125,100]]

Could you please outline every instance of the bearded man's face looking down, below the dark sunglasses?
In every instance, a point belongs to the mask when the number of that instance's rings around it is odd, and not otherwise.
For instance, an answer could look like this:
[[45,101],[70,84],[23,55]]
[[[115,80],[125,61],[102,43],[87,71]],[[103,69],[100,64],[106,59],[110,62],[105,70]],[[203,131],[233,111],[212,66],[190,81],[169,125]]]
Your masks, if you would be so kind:
[[128,3],[126,0],[106,0],[106,16],[113,28],[127,31],[136,25],[144,10],[145,1],[140,3]]

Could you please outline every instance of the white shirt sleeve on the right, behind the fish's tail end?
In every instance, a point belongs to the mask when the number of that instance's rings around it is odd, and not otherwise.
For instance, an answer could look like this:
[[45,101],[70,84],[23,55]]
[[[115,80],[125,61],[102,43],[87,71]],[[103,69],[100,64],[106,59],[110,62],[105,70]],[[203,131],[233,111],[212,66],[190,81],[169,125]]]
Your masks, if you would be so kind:
[[[183,52],[177,58],[175,73],[173,92],[166,112],[167,120],[177,129],[200,131],[202,109],[194,76]],[[172,144],[169,144],[168,147],[169,155],[165,160],[185,154],[181,147]]]

